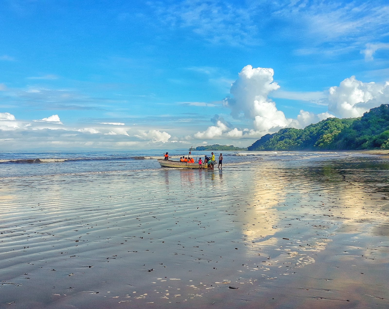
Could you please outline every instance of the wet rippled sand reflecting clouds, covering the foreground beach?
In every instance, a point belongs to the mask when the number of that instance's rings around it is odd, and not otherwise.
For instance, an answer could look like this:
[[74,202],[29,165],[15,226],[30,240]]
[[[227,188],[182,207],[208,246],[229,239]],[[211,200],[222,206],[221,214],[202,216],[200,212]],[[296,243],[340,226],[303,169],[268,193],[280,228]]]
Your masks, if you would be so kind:
[[1,308],[387,308],[387,169],[2,179]]

